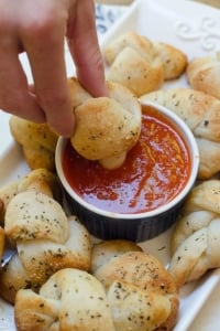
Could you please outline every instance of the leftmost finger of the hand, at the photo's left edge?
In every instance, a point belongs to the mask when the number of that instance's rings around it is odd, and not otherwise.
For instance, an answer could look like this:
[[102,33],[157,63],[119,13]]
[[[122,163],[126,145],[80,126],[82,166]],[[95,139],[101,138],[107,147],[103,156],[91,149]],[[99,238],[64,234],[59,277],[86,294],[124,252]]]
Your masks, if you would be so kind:
[[0,33],[0,108],[22,118],[45,122],[45,115],[29,90],[26,76],[18,58],[15,39]]

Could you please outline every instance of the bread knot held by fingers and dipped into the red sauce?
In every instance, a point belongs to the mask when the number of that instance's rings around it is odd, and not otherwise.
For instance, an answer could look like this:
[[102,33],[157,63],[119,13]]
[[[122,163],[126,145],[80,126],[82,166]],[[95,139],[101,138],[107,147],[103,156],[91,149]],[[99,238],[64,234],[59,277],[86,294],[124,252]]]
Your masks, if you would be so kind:
[[109,96],[94,98],[76,78],[69,79],[76,117],[70,142],[88,160],[106,169],[123,164],[141,134],[141,104],[127,87],[107,82]]

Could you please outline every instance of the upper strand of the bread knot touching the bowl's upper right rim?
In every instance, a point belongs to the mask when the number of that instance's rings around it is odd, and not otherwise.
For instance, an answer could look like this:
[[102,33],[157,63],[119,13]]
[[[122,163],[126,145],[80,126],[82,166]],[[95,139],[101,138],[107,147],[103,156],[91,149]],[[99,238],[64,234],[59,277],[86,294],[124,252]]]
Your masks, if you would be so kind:
[[184,119],[196,137],[220,141],[220,100],[202,92],[177,87],[141,97],[156,102]]

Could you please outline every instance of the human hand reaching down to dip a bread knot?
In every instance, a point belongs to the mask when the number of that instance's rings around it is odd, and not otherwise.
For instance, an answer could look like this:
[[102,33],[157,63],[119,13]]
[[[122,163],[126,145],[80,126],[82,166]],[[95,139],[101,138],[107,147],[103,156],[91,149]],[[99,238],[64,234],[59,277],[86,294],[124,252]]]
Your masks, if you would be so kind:
[[[94,96],[106,95],[92,0],[0,0],[0,108],[70,136],[65,36],[81,85]],[[33,86],[19,61],[23,51]]]

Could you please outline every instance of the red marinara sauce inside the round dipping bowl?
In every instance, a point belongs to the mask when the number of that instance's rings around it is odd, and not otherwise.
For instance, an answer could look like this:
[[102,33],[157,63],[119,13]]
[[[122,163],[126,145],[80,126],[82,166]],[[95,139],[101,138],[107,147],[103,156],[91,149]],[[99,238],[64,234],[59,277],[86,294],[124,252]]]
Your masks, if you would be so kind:
[[119,169],[106,170],[67,143],[65,177],[89,204],[114,213],[142,213],[169,202],[184,189],[191,166],[186,141],[155,108],[143,106],[142,114],[140,139]]

